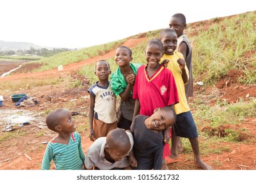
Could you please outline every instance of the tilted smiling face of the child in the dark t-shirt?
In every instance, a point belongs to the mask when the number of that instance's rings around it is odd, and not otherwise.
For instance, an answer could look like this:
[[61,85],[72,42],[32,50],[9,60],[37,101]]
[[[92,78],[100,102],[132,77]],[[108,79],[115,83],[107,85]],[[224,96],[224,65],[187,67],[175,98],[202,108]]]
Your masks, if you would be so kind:
[[170,127],[175,123],[175,118],[171,112],[164,110],[157,110],[150,117],[150,129],[157,131],[164,131],[167,127]]

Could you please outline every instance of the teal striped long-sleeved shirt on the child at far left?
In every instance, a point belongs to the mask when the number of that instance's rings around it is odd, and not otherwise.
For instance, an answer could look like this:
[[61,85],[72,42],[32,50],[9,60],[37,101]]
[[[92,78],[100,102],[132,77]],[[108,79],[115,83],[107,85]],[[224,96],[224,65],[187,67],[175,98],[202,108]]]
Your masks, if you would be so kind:
[[42,170],[50,169],[52,159],[56,170],[81,170],[85,154],[81,148],[79,133],[72,133],[68,144],[49,142],[43,156]]

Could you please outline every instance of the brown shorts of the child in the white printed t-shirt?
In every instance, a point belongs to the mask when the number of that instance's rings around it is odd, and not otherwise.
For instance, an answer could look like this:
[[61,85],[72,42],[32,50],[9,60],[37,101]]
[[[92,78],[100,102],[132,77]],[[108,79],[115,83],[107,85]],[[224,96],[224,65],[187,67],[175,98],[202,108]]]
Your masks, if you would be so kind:
[[108,132],[110,132],[112,129],[117,128],[117,122],[114,122],[112,124],[106,124],[100,120],[94,120],[93,122],[93,131],[95,132],[95,140],[99,137],[106,137],[108,135]]

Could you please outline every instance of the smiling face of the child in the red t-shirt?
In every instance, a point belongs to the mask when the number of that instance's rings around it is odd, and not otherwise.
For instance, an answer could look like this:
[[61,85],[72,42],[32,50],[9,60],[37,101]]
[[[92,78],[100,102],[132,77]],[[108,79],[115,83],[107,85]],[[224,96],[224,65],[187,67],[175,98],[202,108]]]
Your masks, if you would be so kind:
[[159,65],[160,59],[163,56],[163,50],[157,44],[150,44],[146,47],[145,54],[148,67],[155,68]]

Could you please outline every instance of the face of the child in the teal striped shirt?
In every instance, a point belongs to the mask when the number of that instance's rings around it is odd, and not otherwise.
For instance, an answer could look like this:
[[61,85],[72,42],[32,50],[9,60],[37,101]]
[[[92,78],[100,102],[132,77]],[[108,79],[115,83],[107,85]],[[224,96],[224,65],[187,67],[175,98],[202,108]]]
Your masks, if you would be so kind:
[[62,110],[60,113],[58,125],[61,131],[72,133],[75,131],[75,119],[72,117],[70,110]]

